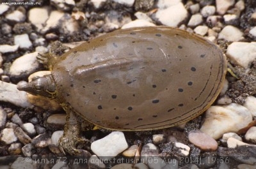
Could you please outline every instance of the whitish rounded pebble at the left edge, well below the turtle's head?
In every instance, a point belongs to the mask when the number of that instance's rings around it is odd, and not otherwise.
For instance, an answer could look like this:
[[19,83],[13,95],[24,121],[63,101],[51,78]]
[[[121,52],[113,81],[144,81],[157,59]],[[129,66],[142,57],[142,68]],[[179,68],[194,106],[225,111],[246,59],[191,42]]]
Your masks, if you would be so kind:
[[0,141],[4,145],[14,143],[17,140],[18,140],[17,136],[15,136],[14,131],[13,131],[12,128],[5,128],[1,131]]

